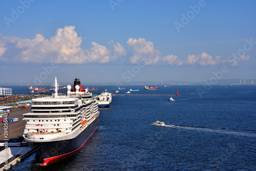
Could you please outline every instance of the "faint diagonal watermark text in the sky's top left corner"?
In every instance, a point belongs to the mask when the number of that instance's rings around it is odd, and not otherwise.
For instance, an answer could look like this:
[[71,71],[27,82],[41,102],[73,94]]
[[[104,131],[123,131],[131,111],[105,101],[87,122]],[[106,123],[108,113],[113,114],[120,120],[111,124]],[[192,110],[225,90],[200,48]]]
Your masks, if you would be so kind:
[[20,0],[20,6],[18,6],[16,9],[11,9],[11,16],[4,17],[5,23],[7,27],[10,27],[10,23],[14,23],[15,20],[19,18],[20,15],[22,15],[26,9],[28,9],[31,5],[31,3],[34,3],[35,0]]

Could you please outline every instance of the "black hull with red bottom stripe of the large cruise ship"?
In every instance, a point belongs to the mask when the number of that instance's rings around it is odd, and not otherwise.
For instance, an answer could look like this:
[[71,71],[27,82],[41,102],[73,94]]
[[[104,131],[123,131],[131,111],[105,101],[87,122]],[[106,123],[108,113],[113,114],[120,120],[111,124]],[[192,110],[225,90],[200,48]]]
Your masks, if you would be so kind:
[[99,116],[83,130],[77,137],[73,139],[49,142],[28,142],[31,148],[35,148],[36,154],[39,156],[41,165],[45,165],[49,161],[70,155],[78,151],[93,135],[99,125]]

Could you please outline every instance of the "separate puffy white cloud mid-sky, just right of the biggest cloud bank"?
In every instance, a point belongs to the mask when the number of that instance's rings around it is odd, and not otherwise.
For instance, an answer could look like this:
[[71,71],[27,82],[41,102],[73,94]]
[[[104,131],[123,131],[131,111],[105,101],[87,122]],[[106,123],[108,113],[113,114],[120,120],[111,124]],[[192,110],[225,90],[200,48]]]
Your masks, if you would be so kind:
[[144,38],[129,38],[128,47],[132,50],[130,57],[131,63],[138,63],[141,57],[146,58],[145,65],[153,65],[160,60],[160,52],[154,48],[152,41],[146,41]]

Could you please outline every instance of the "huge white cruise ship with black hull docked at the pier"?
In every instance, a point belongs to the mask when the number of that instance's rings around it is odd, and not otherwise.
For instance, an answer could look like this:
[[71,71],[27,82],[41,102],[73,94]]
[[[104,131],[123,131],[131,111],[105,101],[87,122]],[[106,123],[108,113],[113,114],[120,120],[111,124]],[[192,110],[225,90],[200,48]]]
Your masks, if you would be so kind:
[[41,165],[78,151],[99,125],[98,101],[81,88],[79,79],[72,90],[67,86],[66,95],[58,94],[56,77],[54,87],[52,97],[32,99],[31,113],[23,114],[23,137]]

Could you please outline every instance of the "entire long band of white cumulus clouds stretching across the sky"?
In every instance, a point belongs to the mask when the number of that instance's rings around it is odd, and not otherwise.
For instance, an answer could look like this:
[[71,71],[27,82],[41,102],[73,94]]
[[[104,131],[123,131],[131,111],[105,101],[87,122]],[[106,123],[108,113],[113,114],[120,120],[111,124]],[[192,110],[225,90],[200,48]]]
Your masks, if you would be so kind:
[[[55,61],[57,63],[109,63],[123,62],[137,64],[143,60],[145,65],[172,65],[172,66],[214,66],[221,64],[220,56],[211,56],[205,52],[202,54],[190,54],[186,59],[180,60],[177,55],[161,56],[159,50],[154,48],[152,41],[144,38],[129,38],[128,49],[125,49],[113,40],[109,45],[112,50],[92,41],[92,47],[81,49],[82,38],[77,36],[74,26],[66,26],[57,29],[54,36],[46,39],[37,34],[33,39],[24,39],[15,36],[3,36],[0,33],[0,61],[35,62],[44,63]],[[222,63],[230,63],[232,66],[241,65],[249,60],[249,56],[229,57]]]

